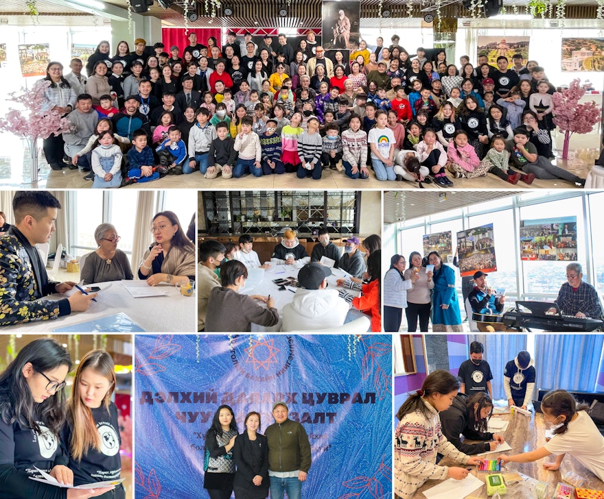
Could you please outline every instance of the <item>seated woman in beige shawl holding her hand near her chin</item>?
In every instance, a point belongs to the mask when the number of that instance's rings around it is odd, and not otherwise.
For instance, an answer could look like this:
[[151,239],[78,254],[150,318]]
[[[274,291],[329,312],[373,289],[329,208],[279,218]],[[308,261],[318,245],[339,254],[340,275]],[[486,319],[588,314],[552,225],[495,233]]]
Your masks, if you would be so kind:
[[195,280],[195,246],[187,239],[176,213],[155,215],[151,232],[155,241],[143,256],[139,279],[146,279],[150,286]]

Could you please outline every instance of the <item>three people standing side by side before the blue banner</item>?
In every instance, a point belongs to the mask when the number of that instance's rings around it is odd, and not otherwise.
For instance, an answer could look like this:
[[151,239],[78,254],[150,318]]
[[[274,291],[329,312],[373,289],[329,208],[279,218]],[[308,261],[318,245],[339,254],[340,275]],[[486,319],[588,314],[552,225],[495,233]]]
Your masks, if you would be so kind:
[[204,488],[210,499],[301,499],[302,485],[312,463],[304,427],[288,418],[285,402],[272,406],[275,423],[259,433],[261,415],[244,419],[239,434],[235,413],[218,407],[205,436]]

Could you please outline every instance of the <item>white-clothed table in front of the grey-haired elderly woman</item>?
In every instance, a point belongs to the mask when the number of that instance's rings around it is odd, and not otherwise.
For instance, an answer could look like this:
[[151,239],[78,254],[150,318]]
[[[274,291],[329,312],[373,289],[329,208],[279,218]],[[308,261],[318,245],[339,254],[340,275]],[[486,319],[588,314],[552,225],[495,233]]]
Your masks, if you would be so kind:
[[[111,287],[108,287],[110,284]],[[91,285],[100,287],[101,291],[97,301],[91,302],[86,312],[73,312],[71,315],[47,321],[16,324],[3,328],[2,332],[16,330],[19,332],[51,332],[58,328],[100,319],[119,312],[128,315],[148,332],[194,332],[197,330],[195,293],[192,296],[183,296],[174,286],[159,284],[158,288],[167,291],[167,295],[135,298],[130,295],[121,281],[100,282]],[[104,288],[107,288],[106,291]],[[63,297],[65,295],[55,293],[45,299],[60,300]]]

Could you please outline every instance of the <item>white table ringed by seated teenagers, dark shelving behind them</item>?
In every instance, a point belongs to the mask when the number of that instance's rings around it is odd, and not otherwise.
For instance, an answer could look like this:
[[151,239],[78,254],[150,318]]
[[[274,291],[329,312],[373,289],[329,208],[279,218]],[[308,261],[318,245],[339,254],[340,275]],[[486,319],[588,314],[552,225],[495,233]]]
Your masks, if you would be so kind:
[[[301,265],[271,264],[270,269],[264,271],[262,280],[260,281],[255,280],[255,273],[258,273],[258,271],[262,273],[262,269],[253,269],[251,275],[248,276],[246,287],[243,291],[241,291],[241,293],[245,295],[270,295],[270,297],[275,300],[275,308],[277,308],[279,311],[279,322],[275,326],[259,326],[258,324],[252,324],[253,332],[275,332],[281,330],[281,323],[283,321],[283,307],[294,300],[295,293],[290,291],[288,288],[286,288],[286,291],[280,291],[279,286],[272,281],[275,279],[285,279],[290,277],[297,278],[301,267]],[[338,291],[340,289],[346,289],[347,293],[350,293],[351,295],[360,295],[358,291],[338,287],[336,280],[343,279],[346,276],[351,277],[351,274],[343,271],[342,269],[332,269],[332,275],[327,278],[327,283],[329,284],[327,289],[337,289]]]

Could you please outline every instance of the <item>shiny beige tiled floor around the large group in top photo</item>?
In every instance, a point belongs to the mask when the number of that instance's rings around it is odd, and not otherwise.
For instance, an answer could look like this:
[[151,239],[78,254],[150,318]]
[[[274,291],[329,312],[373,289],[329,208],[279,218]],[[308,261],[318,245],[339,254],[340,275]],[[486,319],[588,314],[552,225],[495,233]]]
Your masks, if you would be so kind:
[[[555,145],[561,148],[563,136],[555,133]],[[52,171],[45,162],[44,155],[40,147],[40,171],[39,180],[36,184],[31,183],[31,159],[29,151],[24,150],[23,142],[19,141],[21,147],[14,147],[16,138],[8,134],[0,136],[0,151],[9,151],[7,156],[0,156],[0,186],[14,188],[27,188],[30,186],[38,188],[91,188],[92,182],[83,179],[84,173],[78,170],[62,169],[62,171]],[[575,158],[572,160],[556,160],[557,165],[566,168],[581,178],[585,178],[590,168],[594,165],[594,158],[599,155],[599,129],[591,134],[575,136],[571,143],[571,154]],[[12,145],[12,147],[9,147]],[[41,143],[40,143],[41,146]],[[523,182],[518,182],[512,186],[503,182],[494,175],[474,179],[454,180],[456,188],[479,188],[479,189],[508,189],[529,188]],[[207,180],[199,172],[191,175],[167,176],[155,182],[146,182],[145,184],[132,184],[126,188],[211,188],[211,189],[359,189],[359,188],[414,188],[417,184],[411,182],[380,182],[375,178],[373,171],[370,171],[370,178],[367,180],[351,180],[343,171],[324,170],[321,180],[312,180],[311,178],[299,179],[294,173],[283,175],[262,176],[255,178],[246,175],[239,179],[223,180],[218,177],[215,180]],[[424,185],[425,188],[441,188],[435,184]],[[573,188],[574,184],[564,180],[535,180],[531,188]]]

